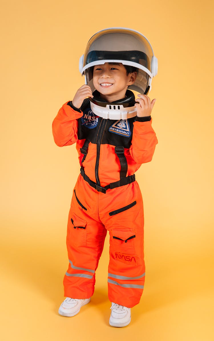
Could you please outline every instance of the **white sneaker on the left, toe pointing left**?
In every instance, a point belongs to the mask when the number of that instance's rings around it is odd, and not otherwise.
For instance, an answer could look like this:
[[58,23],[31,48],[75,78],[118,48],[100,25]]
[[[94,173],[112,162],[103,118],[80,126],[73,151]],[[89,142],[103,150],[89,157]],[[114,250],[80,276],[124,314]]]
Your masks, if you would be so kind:
[[75,299],[67,297],[59,307],[59,315],[68,317],[75,316],[80,311],[80,308],[88,304],[90,300],[91,297],[84,299]]

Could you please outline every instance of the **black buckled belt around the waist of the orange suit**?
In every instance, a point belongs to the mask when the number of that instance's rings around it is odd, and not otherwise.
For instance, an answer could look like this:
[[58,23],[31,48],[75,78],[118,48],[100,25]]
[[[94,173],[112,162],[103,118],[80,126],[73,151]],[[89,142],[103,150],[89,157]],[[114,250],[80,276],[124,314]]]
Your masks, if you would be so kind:
[[108,189],[113,189],[116,187],[121,187],[124,185],[128,185],[135,181],[135,174],[126,176],[125,178],[120,179],[119,181],[111,182],[109,185],[105,187],[98,186],[96,182],[89,179],[89,177],[85,174],[84,169],[80,168],[80,174],[82,175],[83,179],[90,184],[91,187],[95,188],[98,192],[106,193]]

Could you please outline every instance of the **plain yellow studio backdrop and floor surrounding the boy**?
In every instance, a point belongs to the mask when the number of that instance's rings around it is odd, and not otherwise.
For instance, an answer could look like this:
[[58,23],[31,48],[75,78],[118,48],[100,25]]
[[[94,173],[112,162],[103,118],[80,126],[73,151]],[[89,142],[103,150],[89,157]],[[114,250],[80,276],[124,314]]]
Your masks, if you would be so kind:
[[[193,340],[213,335],[213,2],[3,1],[1,340]],[[158,58],[159,144],[136,173],[146,283],[126,328],[108,325],[108,237],[91,303],[59,316],[75,146],[54,144],[58,109],[84,83],[79,57],[107,27],[142,32]]]

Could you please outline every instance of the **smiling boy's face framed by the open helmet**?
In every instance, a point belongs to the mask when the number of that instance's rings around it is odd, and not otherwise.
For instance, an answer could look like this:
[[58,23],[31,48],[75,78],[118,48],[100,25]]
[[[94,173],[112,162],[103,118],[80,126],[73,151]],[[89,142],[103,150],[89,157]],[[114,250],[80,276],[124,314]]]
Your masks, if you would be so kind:
[[129,85],[133,84],[136,73],[126,74],[122,63],[105,63],[95,65],[93,71],[94,87],[107,102],[113,102],[125,97]]

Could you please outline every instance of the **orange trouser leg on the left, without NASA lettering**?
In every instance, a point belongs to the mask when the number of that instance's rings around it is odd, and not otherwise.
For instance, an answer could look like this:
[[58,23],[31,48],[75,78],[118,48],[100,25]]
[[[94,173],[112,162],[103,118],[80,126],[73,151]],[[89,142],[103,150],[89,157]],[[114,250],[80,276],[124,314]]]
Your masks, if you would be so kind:
[[[85,192],[87,190],[88,193]],[[97,193],[92,192],[91,188],[80,186],[77,182],[67,226],[69,267],[63,281],[67,297],[89,298],[94,293],[95,270],[106,236],[106,229],[94,210],[96,200]]]

